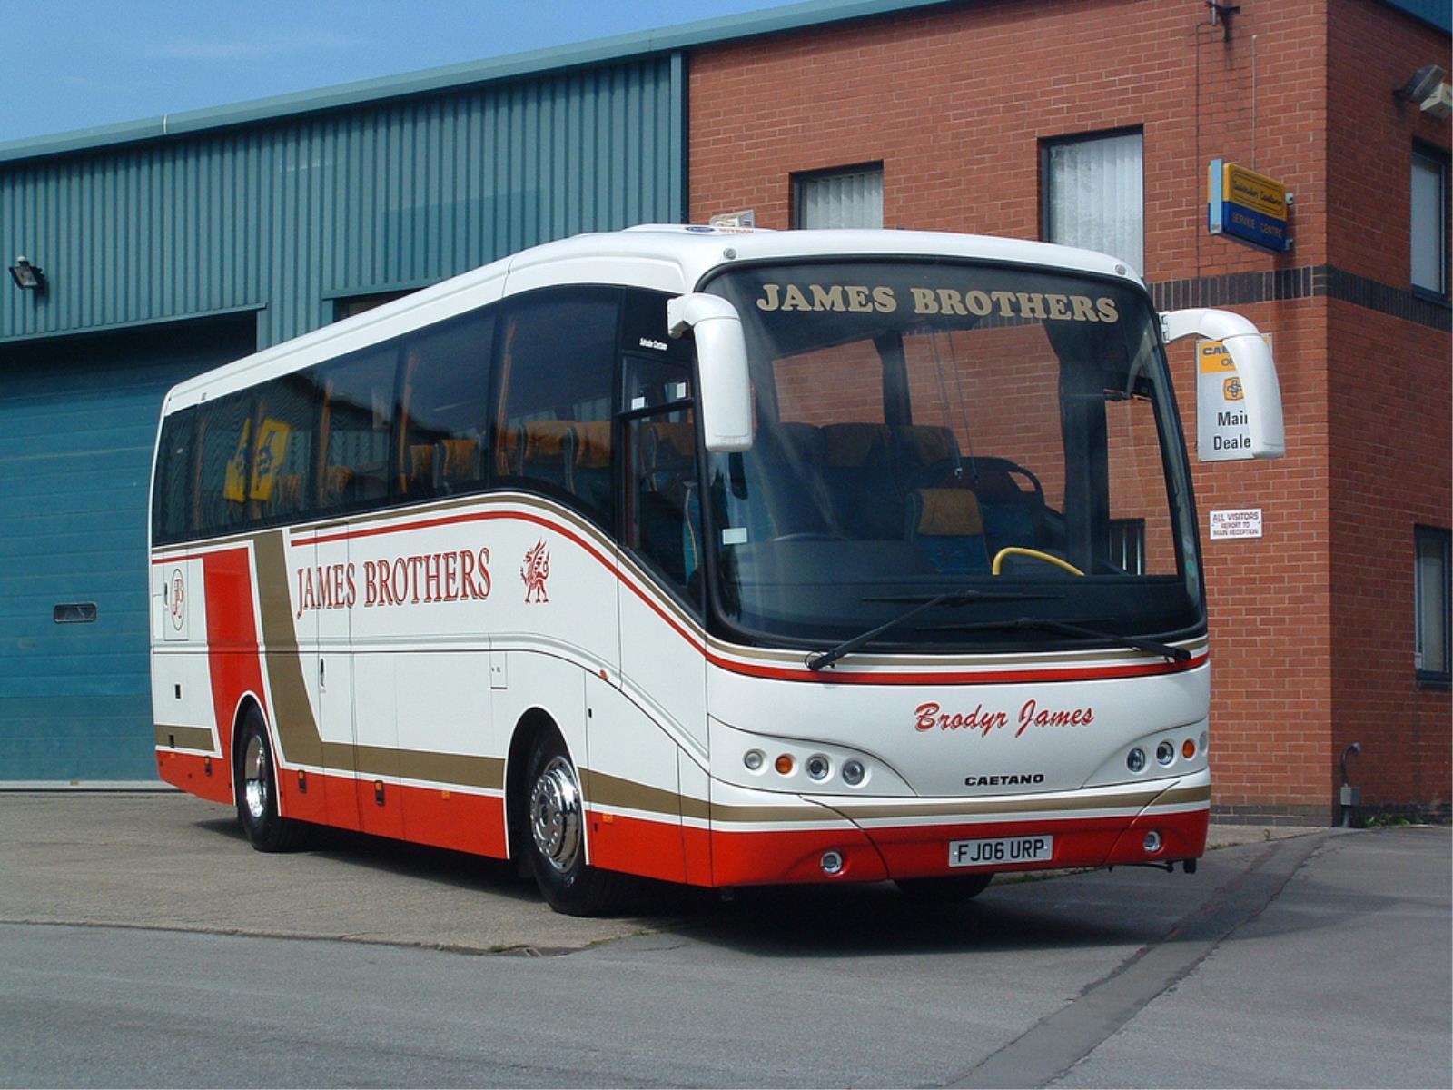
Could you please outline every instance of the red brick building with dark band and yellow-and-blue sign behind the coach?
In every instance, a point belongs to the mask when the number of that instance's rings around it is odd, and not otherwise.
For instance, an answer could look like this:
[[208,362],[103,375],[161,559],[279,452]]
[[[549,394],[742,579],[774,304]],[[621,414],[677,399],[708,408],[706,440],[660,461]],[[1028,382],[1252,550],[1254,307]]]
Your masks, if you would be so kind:
[[[1286,458],[1196,469],[1216,810],[1329,823],[1356,741],[1364,810],[1446,812],[1450,124],[1395,90],[1449,64],[1447,12],[875,9],[692,51],[692,221],[753,209],[758,227],[806,225],[805,186],[841,170],[881,185],[885,227],[1055,240],[1053,150],[1138,137],[1132,263],[1162,308],[1223,305],[1271,333],[1286,407]],[[1218,158],[1295,193],[1293,249],[1207,233]],[[1171,355],[1187,436],[1193,353]],[[1261,538],[1209,538],[1209,512],[1247,507]]]

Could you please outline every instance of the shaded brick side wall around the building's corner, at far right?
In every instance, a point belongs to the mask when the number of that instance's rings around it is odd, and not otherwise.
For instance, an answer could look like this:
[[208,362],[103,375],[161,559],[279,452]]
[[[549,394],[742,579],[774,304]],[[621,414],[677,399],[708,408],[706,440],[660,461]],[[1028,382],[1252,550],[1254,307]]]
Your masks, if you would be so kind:
[[[1331,262],[1411,286],[1409,153],[1449,148],[1449,121],[1392,89],[1449,65],[1449,38],[1364,0],[1332,0],[1328,33]],[[1338,74],[1356,73],[1356,78]],[[1447,222],[1447,217],[1444,218]],[[1329,302],[1328,449],[1332,542],[1334,783],[1343,747],[1376,807],[1447,807],[1449,692],[1414,679],[1414,526],[1453,525],[1449,337],[1350,302]]]

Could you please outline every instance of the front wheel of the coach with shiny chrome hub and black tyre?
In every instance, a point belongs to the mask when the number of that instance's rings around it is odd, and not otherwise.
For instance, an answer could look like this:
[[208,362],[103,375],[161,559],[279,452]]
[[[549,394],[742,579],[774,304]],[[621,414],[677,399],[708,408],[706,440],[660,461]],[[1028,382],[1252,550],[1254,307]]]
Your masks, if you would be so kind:
[[546,904],[567,916],[616,908],[626,876],[586,866],[586,807],[565,743],[542,730],[530,747],[525,788],[525,852]]

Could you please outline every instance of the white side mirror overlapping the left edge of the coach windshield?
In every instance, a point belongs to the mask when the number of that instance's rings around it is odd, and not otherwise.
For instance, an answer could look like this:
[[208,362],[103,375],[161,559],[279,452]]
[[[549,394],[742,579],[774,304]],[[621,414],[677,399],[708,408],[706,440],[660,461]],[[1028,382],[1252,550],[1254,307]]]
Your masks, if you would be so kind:
[[700,385],[696,405],[702,414],[706,449],[732,453],[751,449],[751,378],[747,374],[747,337],[741,315],[716,295],[677,295],[665,302],[665,326],[673,337],[686,330],[696,336]]

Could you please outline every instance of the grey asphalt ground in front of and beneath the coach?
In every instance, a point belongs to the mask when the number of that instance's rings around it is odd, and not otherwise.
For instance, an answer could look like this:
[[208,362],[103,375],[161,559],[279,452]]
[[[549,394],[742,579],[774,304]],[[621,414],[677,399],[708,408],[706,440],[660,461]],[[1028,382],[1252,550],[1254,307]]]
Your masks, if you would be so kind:
[[464,856],[0,796],[0,1084],[1447,1087],[1450,841],[581,921]]

